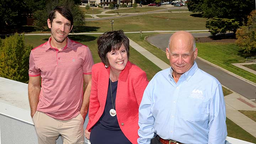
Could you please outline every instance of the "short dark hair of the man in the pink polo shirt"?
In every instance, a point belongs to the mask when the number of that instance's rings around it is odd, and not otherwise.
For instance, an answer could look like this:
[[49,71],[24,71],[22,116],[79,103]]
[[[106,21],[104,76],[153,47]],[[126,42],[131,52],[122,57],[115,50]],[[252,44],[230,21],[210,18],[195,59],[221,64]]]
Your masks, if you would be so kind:
[[73,15],[68,7],[65,6],[55,6],[54,9],[49,14],[49,20],[52,24],[53,19],[55,18],[55,13],[58,11],[63,17],[68,19],[71,22],[71,26],[73,25]]

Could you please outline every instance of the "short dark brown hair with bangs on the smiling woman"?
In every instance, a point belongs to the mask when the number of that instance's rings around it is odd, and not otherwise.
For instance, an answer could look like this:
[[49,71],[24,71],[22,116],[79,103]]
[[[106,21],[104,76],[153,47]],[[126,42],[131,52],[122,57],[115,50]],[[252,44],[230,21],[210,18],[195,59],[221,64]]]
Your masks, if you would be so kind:
[[126,48],[127,56],[129,58],[129,39],[124,35],[123,30],[103,33],[97,39],[97,44],[98,55],[100,56],[102,63],[104,63],[105,65],[109,65],[107,53],[111,52],[111,50],[119,50],[122,44]]

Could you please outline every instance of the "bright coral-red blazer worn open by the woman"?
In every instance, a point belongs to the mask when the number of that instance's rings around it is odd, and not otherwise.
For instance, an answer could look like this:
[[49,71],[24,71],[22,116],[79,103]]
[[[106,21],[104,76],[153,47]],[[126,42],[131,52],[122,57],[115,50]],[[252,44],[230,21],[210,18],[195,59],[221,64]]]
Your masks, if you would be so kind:
[[[103,114],[107,99],[109,75],[110,67],[105,68],[103,63],[92,66],[89,122],[86,128],[89,132]],[[147,85],[148,79],[145,71],[128,61],[126,67],[120,73],[117,83],[116,116],[122,132],[133,144],[137,144],[139,138],[139,105]]]

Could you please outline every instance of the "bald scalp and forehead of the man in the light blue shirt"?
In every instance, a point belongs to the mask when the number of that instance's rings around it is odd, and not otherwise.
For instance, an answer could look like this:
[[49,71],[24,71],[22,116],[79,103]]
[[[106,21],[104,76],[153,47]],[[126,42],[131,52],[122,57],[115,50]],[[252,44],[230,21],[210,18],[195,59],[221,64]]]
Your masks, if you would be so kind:
[[174,43],[180,43],[180,42],[185,42],[188,47],[193,48],[193,51],[196,49],[195,38],[190,32],[186,32],[186,31],[178,31],[172,34],[172,36],[169,39],[168,49],[170,50],[170,47]]

